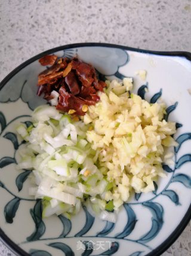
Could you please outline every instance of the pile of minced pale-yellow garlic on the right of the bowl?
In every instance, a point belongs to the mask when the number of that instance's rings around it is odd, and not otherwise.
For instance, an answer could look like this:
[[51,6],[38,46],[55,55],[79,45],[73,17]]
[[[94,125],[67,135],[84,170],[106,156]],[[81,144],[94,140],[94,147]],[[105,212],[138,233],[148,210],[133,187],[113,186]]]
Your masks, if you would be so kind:
[[175,123],[164,120],[165,104],[150,104],[130,94],[132,82],[131,78],[125,78],[123,85],[107,82],[100,101],[83,117],[92,127],[87,140],[99,152],[97,165],[115,184],[104,199],[113,200],[116,208],[128,200],[132,189],[137,193],[155,189],[153,182],[165,177],[164,147],[177,146],[171,137]]

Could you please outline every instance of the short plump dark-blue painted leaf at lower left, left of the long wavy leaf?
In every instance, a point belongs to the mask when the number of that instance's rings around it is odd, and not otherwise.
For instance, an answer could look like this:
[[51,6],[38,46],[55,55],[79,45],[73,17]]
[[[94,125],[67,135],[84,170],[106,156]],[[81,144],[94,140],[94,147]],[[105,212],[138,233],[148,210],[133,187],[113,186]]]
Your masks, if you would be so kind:
[[20,199],[15,197],[5,205],[4,215],[8,223],[13,223],[13,218],[16,216],[19,203]]

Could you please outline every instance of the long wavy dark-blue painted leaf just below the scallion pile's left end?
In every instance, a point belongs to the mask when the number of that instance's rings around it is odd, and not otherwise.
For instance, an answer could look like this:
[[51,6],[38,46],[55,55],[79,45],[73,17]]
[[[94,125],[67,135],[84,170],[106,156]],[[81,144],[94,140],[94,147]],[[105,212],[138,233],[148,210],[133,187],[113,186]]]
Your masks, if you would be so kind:
[[37,200],[33,209],[30,209],[30,215],[35,222],[35,231],[27,237],[27,241],[36,241],[45,233],[45,225],[42,221],[42,202]]

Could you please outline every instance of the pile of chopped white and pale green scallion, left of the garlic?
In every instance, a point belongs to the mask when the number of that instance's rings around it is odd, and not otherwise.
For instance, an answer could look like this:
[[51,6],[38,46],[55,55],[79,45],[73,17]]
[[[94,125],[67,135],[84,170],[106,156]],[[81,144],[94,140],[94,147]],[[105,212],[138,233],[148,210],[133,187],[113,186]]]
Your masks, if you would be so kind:
[[[53,92],[54,100],[57,93]],[[20,125],[17,131],[23,138],[29,140],[20,148],[20,168],[33,169],[32,186],[29,194],[43,199],[43,216],[53,214],[76,214],[81,209],[83,195],[90,190],[90,184],[102,179],[94,162],[88,158],[85,140],[87,127],[81,122],[72,122],[69,115],[61,115],[54,107],[40,106],[32,115],[33,127],[27,130]],[[84,171],[80,171],[81,168]],[[82,183],[85,177],[98,171],[98,176],[89,179],[89,184]],[[98,182],[97,191],[103,191],[105,181]],[[96,212],[103,209],[103,200],[97,200]],[[93,212],[93,210],[92,210]]]

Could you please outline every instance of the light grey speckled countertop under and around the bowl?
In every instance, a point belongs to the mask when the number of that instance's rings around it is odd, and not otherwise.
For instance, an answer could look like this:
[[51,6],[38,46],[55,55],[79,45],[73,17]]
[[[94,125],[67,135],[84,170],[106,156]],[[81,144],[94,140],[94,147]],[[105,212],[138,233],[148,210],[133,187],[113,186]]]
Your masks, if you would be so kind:
[[[0,80],[30,57],[81,42],[191,52],[191,0],[0,1]],[[191,255],[191,225],[163,256]],[[12,256],[0,242],[0,256]]]

